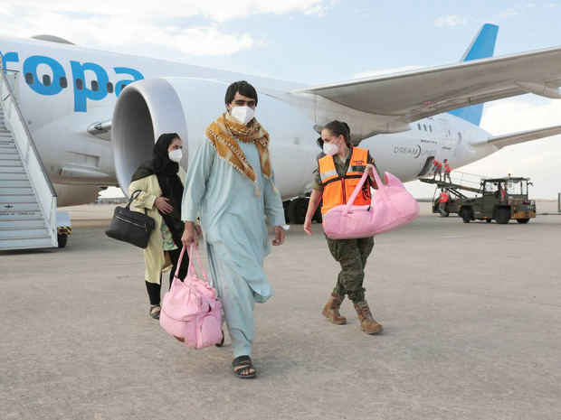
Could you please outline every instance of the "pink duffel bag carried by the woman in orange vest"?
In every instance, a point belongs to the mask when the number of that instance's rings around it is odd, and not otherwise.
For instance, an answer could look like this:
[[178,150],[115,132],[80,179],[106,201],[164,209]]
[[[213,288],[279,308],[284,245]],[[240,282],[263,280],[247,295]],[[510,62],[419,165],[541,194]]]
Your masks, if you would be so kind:
[[329,210],[323,217],[323,229],[332,239],[369,238],[395,229],[419,216],[419,203],[404,184],[391,173],[385,173],[385,184],[374,170],[378,186],[372,192],[370,206],[353,206],[366,181],[362,175],[347,204]]

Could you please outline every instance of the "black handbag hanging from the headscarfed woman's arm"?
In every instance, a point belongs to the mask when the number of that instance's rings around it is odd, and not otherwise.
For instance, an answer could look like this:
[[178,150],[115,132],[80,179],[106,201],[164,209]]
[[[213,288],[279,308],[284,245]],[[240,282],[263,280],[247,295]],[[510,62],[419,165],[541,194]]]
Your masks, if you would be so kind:
[[[140,190],[134,191],[130,195],[130,200],[126,207],[116,207],[113,219],[105,234],[109,238],[128,242],[135,247],[145,248],[148,246],[148,239],[152,230],[156,227],[156,221],[147,214],[130,210],[130,203],[137,198]],[[136,195],[135,195],[136,194]],[[144,210],[146,213],[146,209]]]

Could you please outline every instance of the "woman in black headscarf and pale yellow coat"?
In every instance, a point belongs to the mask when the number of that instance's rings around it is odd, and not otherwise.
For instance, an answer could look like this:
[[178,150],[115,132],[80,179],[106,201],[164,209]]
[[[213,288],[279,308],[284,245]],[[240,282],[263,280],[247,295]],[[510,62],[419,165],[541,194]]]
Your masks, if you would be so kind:
[[[128,195],[140,191],[133,205],[156,221],[156,228],[144,249],[146,287],[150,299],[150,316],[159,319],[162,272],[171,266],[169,283],[174,278],[181,253],[181,199],[185,184],[185,170],[179,165],[182,142],[176,133],[160,135],[152,153],[152,160],[142,163],[132,175]],[[189,258],[185,255],[179,269],[185,278]]]

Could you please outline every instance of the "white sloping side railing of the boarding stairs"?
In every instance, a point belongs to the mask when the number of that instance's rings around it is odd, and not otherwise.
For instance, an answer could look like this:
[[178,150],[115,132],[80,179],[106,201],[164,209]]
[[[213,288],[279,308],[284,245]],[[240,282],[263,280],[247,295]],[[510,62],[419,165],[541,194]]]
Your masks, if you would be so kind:
[[[4,110],[5,120],[8,122],[8,126],[12,131],[12,136],[14,137],[14,142],[21,154],[22,161],[26,163],[25,169],[29,173],[33,190],[37,194],[39,205],[43,210],[43,215],[47,219],[47,227],[49,229],[49,235],[52,238],[52,245],[56,246],[57,194],[52,186],[51,179],[45,170],[43,161],[41,160],[41,155],[37,151],[35,143],[33,142],[33,136],[25,124],[24,116],[22,115],[22,112],[15,100],[14,92],[8,83],[5,72],[13,70],[1,71],[2,67],[2,60],[0,59],[0,103]],[[33,174],[42,176],[33,176]],[[46,187],[46,189],[39,188],[40,185],[37,185],[36,182],[43,182],[43,187]],[[50,194],[47,194],[46,191],[49,191]]]

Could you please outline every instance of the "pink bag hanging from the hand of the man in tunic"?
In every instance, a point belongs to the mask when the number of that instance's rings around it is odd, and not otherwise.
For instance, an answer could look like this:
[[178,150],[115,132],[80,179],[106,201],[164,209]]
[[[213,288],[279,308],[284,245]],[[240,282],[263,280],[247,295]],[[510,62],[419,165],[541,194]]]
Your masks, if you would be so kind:
[[[214,287],[208,283],[197,248],[191,246],[190,251],[189,268],[182,282],[177,275],[185,247],[181,250],[176,276],[162,300],[160,326],[185,346],[203,349],[223,341],[222,303]],[[196,276],[194,257],[204,280]]]

